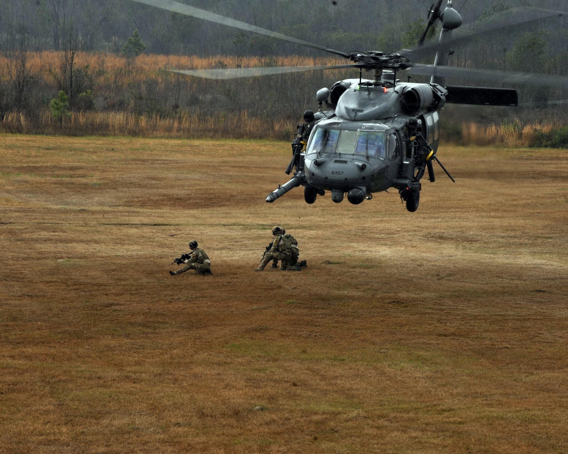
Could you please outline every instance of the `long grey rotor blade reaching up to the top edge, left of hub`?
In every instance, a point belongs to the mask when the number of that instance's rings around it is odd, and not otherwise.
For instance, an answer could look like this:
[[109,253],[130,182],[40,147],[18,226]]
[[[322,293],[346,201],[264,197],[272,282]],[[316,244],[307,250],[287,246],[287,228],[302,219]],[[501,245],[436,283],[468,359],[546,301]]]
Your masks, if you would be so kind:
[[329,49],[327,47],[320,46],[318,44],[308,43],[307,41],[302,41],[290,36],[282,35],[282,33],[273,32],[266,30],[265,28],[256,27],[245,22],[240,22],[240,20],[229,19],[225,16],[215,14],[206,10],[200,10],[193,6],[184,5],[183,3],[174,2],[173,0],[132,0],[137,3],[144,3],[144,5],[155,6],[156,8],[161,8],[162,10],[177,12],[178,14],[183,14],[186,16],[191,16],[198,19],[208,20],[210,22],[215,22],[217,24],[223,24],[228,27],[238,28],[239,30],[244,30],[247,32],[258,33],[259,35],[270,36],[271,38],[279,39],[282,41],[288,41],[289,43],[299,44],[306,47],[311,47],[313,49],[319,49],[320,51],[334,53],[340,55],[341,57],[348,57],[345,52],[335,51],[334,49]]

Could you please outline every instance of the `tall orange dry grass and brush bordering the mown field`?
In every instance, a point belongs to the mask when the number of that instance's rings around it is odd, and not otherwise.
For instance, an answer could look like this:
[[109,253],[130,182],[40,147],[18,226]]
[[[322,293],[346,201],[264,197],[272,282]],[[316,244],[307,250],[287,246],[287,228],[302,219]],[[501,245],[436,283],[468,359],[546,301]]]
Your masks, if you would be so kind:
[[[0,131],[285,140],[293,133],[301,112],[316,107],[316,90],[339,79],[354,77],[352,72],[336,70],[278,78],[207,81],[186,78],[166,69],[323,65],[338,61],[300,56],[143,54],[129,64],[126,58],[114,54],[79,52],[76,68],[82,72],[81,90],[92,90],[89,93],[94,94],[93,103],[85,106],[76,100],[73,111],[60,125],[48,106],[61,89],[61,56],[57,51],[30,54],[28,64],[39,84],[26,108],[9,106],[6,102],[10,77],[7,65],[0,65]],[[459,116],[450,117],[442,117],[442,139],[445,143],[463,145],[543,146],[546,145],[543,137],[562,127],[560,120],[548,121],[546,117],[540,117],[540,121],[514,119],[491,125],[475,123],[470,117],[466,121]],[[554,140],[551,138],[549,142]],[[562,140],[554,143],[562,145]]]

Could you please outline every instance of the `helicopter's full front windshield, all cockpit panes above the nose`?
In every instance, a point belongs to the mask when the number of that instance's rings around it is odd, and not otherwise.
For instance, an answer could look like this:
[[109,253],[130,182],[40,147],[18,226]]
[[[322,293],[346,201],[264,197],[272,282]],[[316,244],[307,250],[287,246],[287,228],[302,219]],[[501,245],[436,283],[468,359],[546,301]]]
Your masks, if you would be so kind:
[[306,154],[357,154],[385,159],[385,133],[318,127]]

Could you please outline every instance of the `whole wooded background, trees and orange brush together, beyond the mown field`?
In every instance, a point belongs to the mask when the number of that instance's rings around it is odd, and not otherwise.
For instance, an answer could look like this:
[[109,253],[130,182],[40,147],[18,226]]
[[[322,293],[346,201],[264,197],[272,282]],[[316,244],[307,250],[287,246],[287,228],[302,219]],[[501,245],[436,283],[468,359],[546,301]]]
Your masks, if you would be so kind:
[[[295,0],[191,2],[329,47],[386,51],[417,43],[425,25],[421,17],[430,3],[413,2],[409,9],[408,2],[338,0],[333,6],[315,0],[307,9],[306,2]],[[558,9],[564,2],[541,3]],[[517,2],[468,2],[462,15],[487,21],[512,6]],[[27,22],[19,22],[23,17]],[[0,0],[0,24],[5,30],[0,40],[3,131],[289,138],[301,113],[318,108],[317,90],[358,77],[344,70],[208,81],[170,73],[166,69],[345,61],[129,0]],[[456,49],[450,64],[568,74],[567,26],[568,20],[558,19],[486,37]],[[431,39],[437,39],[437,33]],[[448,83],[494,86],[483,81]],[[484,128],[495,119],[521,125],[552,125],[554,120],[554,128],[562,127],[558,123],[568,117],[566,87],[514,88],[523,107],[475,111],[485,112],[477,116]],[[465,141],[469,133],[462,125],[471,118],[467,108],[454,108],[446,116],[453,123],[445,131],[453,140]]]

